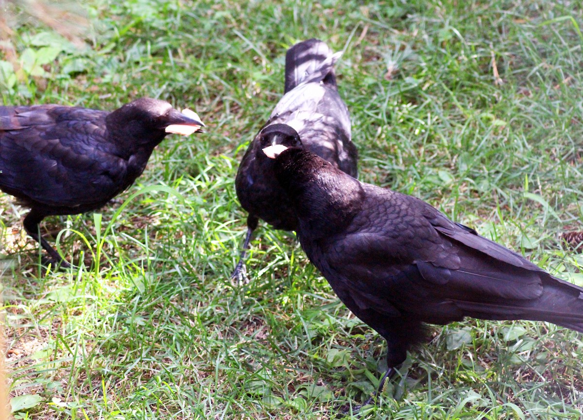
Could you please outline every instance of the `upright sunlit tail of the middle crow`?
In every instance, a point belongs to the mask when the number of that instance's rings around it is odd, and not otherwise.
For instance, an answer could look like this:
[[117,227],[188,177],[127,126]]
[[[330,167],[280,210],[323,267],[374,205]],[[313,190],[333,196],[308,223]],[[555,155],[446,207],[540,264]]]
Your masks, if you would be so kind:
[[336,88],[334,64],[342,52],[333,54],[323,41],[312,38],[293,45],[286,54],[285,93],[300,83],[323,81]]

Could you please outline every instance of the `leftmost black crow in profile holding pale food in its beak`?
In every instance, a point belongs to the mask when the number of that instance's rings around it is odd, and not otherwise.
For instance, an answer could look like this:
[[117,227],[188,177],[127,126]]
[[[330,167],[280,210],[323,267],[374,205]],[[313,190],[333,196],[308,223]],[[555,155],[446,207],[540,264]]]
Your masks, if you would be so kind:
[[113,112],[0,107],[0,189],[30,207],[24,229],[54,263],[68,267],[41,237],[40,221],[99,209],[134,183],[167,133],[190,135],[201,126],[195,112],[151,98]]

